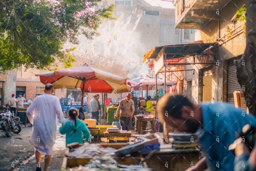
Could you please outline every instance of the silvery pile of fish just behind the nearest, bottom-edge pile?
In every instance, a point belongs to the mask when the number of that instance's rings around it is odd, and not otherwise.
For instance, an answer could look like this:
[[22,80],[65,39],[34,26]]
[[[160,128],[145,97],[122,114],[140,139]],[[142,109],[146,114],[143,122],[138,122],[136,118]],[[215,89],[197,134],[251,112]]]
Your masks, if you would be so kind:
[[111,147],[103,148],[100,144],[90,144],[83,145],[75,149],[70,149],[69,153],[65,155],[67,157],[76,157],[76,158],[93,158],[99,156],[112,156],[116,152],[116,149]]

